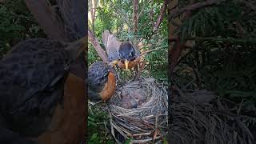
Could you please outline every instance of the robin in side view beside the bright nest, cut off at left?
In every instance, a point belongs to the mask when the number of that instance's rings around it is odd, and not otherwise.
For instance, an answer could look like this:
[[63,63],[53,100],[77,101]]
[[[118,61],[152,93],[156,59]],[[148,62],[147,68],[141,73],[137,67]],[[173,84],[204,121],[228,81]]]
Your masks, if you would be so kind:
[[92,102],[106,102],[115,92],[116,75],[106,62],[94,62],[88,70],[89,98]]

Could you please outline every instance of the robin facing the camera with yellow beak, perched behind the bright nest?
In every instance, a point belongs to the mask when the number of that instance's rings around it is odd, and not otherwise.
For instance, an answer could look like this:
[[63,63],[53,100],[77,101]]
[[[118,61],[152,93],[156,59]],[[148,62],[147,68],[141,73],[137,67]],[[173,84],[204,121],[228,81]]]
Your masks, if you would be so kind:
[[102,41],[111,64],[126,70],[137,66],[140,54],[130,42],[120,42],[109,30],[102,33]]

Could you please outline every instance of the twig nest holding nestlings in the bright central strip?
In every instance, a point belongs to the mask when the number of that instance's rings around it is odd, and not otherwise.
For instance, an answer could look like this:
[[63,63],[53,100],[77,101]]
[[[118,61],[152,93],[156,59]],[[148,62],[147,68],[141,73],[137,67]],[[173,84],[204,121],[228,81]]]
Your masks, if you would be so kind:
[[154,78],[140,78],[118,86],[108,104],[111,133],[114,131],[133,143],[161,141],[168,122],[166,86]]

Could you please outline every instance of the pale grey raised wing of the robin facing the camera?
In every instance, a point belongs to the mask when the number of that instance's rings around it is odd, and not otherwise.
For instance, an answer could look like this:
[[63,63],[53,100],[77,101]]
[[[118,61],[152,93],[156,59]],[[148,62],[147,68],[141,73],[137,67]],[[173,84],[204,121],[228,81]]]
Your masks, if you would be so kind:
[[122,42],[120,42],[114,34],[110,34],[109,30],[104,30],[102,33],[102,42],[106,47],[106,54],[108,54],[110,62],[118,59],[118,50]]

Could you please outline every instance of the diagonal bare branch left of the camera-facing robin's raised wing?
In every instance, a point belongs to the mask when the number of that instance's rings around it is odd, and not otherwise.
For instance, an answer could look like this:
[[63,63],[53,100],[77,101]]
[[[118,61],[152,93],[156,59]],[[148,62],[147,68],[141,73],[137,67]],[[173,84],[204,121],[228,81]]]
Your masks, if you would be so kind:
[[105,51],[102,49],[102,46],[100,46],[98,39],[94,37],[94,33],[90,29],[88,29],[88,38],[94,46],[95,50],[97,51],[99,57],[102,58],[102,61],[109,62]]

